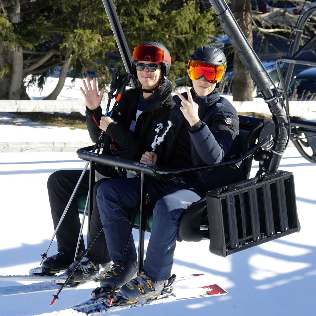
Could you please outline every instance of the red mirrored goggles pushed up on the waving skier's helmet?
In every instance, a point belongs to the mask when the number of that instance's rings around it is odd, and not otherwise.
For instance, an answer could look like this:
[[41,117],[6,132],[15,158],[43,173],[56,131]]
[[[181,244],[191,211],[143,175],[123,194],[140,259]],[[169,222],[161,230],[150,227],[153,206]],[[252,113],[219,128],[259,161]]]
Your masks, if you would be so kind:
[[166,61],[171,64],[170,55],[166,54],[165,51],[156,46],[149,45],[138,45],[134,48],[133,59],[136,60],[149,60],[152,63],[161,63]]

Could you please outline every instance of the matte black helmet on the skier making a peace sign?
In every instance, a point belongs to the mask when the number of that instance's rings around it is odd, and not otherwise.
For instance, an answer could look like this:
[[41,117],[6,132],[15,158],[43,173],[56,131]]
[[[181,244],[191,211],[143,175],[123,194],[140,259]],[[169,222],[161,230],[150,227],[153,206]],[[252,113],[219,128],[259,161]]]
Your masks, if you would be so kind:
[[[188,66],[191,61],[197,61],[197,62],[202,62],[206,64],[212,64],[215,66],[221,66],[223,65],[223,71],[222,74],[219,78],[219,80],[216,80],[213,83],[216,83],[216,87],[219,86],[219,83],[221,82],[222,78],[224,77],[225,70],[227,67],[227,62],[226,62],[226,56],[222,50],[215,46],[200,46],[198,47],[190,56]],[[189,67],[188,67],[189,70]],[[189,72],[188,72],[189,74]],[[192,85],[192,80],[189,77],[189,81]]]

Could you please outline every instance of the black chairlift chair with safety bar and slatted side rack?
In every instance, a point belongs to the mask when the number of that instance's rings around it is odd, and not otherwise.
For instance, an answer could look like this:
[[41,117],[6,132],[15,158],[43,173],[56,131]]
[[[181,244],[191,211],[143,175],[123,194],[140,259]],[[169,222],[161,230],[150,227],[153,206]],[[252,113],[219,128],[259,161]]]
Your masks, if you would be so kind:
[[[110,20],[125,68],[130,69],[130,60],[126,58],[129,49],[119,24],[112,0],[102,0]],[[292,173],[278,171],[278,165],[288,143],[289,115],[276,90],[269,88],[271,80],[264,67],[246,41],[227,4],[223,0],[210,0],[223,30],[232,41],[236,51],[260,90],[272,113],[272,119],[263,120],[240,116],[240,141],[244,153],[239,159],[225,162],[242,161],[244,180],[206,192],[201,200],[192,203],[179,221],[178,240],[210,240],[210,252],[226,257],[229,254],[259,245],[263,242],[298,232],[300,224],[297,216],[295,187]],[[117,159],[100,154],[91,154],[88,148],[78,150],[79,158],[90,161],[90,179],[94,178],[95,163],[116,166],[141,173],[142,188],[145,190],[146,177],[168,172],[181,173],[189,170],[202,170],[218,167],[204,166],[173,170],[156,166],[144,168],[133,161]],[[259,161],[259,171],[255,178],[249,179],[253,158]],[[90,190],[93,185],[90,185]],[[145,198],[142,192],[139,223],[139,266],[143,263],[143,245],[145,229],[150,231],[150,218],[145,219]],[[91,194],[89,194],[90,200]],[[79,198],[80,200],[80,198]],[[77,199],[78,206],[80,202]],[[85,201],[85,197],[81,197]],[[89,201],[89,205],[92,202]],[[90,214],[89,214],[90,215]],[[145,225],[145,223],[147,223]]]

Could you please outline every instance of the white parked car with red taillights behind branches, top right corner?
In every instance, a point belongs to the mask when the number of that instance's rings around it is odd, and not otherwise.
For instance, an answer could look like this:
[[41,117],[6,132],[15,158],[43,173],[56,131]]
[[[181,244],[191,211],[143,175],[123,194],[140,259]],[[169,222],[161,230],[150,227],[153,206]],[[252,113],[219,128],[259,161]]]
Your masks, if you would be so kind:
[[266,16],[274,23],[282,23],[294,27],[297,22],[297,18],[300,14],[304,14],[308,9],[316,5],[316,1],[310,1],[305,3],[292,2],[292,1],[281,1],[272,0],[269,2],[267,7],[264,9],[265,13],[270,13]]

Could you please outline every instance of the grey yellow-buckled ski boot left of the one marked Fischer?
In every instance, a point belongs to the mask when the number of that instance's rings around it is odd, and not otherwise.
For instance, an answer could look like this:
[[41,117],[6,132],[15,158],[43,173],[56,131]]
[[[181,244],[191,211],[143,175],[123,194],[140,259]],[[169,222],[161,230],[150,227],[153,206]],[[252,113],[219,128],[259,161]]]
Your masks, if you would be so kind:
[[[116,282],[116,276],[119,273],[119,269],[121,269],[120,264],[113,264],[111,270],[104,273],[103,279],[101,280],[100,287],[96,288],[92,291],[91,296],[107,296],[111,294],[114,284]],[[137,275],[137,261],[129,264],[122,265],[122,269],[119,275],[119,281],[117,283],[116,291],[119,291],[120,287],[124,285],[126,282],[131,280],[134,276]]]

